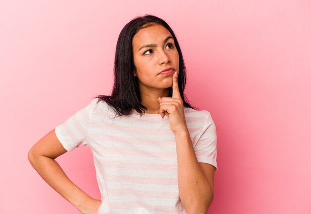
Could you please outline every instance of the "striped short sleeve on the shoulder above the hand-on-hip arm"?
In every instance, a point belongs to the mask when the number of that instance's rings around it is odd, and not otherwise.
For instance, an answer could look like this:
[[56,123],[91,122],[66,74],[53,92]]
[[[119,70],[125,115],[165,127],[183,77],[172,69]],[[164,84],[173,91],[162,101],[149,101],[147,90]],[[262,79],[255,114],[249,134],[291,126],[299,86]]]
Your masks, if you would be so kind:
[[98,99],[91,100],[87,106],[55,128],[58,140],[67,151],[72,151],[81,145],[87,145],[88,125]]

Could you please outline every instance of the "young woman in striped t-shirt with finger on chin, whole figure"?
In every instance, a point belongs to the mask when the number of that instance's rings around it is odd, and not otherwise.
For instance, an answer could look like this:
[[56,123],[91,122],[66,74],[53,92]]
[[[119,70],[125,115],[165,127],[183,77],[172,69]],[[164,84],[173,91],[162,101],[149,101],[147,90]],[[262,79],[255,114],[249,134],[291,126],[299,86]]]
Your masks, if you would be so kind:
[[[99,95],[29,151],[40,176],[82,214],[206,214],[214,197],[216,126],[184,100],[186,69],[168,24],[152,15],[122,29],[111,96]],[[93,153],[101,200],[55,158]]]

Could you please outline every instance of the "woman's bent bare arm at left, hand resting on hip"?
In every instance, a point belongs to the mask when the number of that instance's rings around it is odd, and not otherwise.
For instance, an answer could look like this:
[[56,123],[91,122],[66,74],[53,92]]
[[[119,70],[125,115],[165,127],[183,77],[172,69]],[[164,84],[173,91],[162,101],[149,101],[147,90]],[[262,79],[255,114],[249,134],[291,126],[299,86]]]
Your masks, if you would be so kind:
[[82,214],[97,214],[100,200],[91,198],[65,174],[55,158],[67,150],[58,140],[55,129],[35,143],[28,152],[33,168],[56,192],[74,205]]

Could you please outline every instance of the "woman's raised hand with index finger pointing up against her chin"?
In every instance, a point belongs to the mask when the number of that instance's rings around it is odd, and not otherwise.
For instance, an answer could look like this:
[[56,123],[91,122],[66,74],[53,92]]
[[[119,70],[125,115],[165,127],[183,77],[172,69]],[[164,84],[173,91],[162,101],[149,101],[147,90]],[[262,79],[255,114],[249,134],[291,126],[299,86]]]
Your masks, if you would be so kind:
[[169,118],[170,129],[174,134],[181,132],[188,132],[183,101],[181,99],[178,82],[177,72],[173,74],[173,94],[172,97],[159,97],[159,114],[162,118],[165,115]]

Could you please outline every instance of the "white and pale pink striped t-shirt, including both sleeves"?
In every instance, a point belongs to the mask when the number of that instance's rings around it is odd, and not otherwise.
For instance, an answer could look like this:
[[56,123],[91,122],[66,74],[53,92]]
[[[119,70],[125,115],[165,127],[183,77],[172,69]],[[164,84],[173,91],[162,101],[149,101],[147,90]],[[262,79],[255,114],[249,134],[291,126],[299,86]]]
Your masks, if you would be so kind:
[[[210,112],[184,107],[198,162],[217,171],[216,126]],[[186,214],[178,193],[177,153],[169,118],[133,109],[115,116],[103,100],[55,128],[64,148],[90,147],[102,204],[97,214]]]

